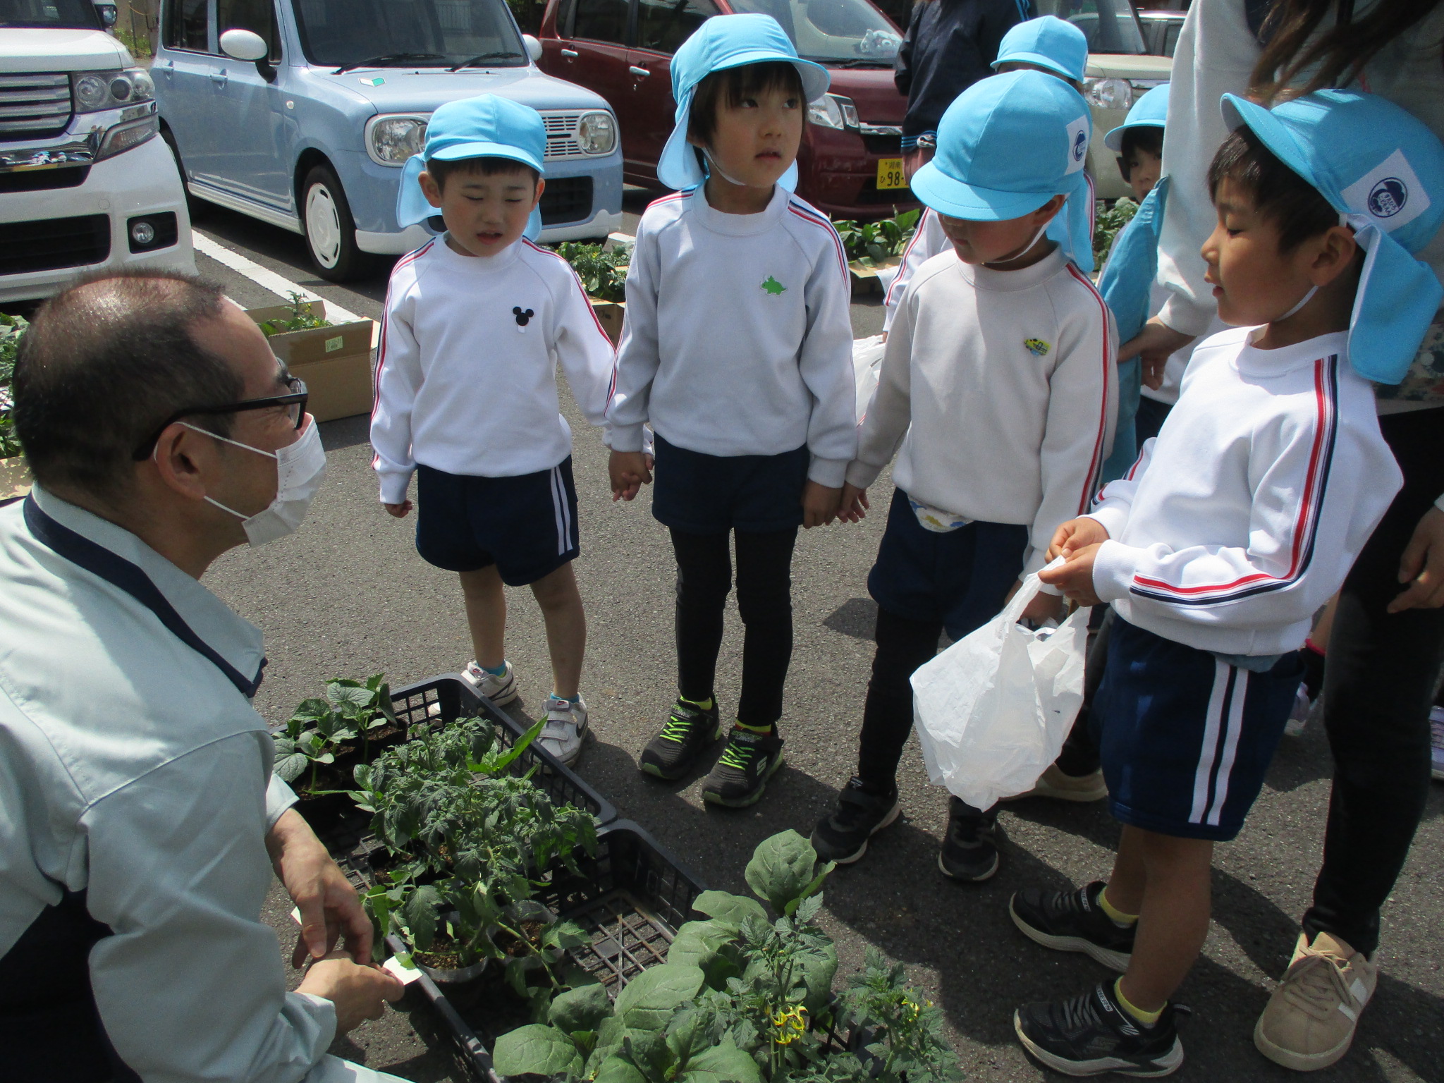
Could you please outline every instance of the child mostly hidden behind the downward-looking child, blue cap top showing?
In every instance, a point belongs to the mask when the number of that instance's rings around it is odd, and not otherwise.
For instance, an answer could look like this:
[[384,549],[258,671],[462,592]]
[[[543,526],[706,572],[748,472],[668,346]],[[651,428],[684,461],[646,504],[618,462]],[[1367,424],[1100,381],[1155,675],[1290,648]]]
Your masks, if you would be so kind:
[[[1028,19],[1018,23],[1002,36],[998,45],[998,58],[992,62],[993,71],[1002,74],[1009,71],[1041,71],[1045,75],[1056,75],[1073,90],[1083,90],[1083,74],[1087,68],[1087,36],[1066,19],[1045,14],[1040,19]],[[1084,173],[1086,175],[1086,173]],[[1079,237],[1067,237],[1067,217],[1048,224],[1048,235],[1056,241],[1064,241],[1069,251],[1084,270],[1093,270],[1093,188],[1089,180],[1087,221],[1077,219]],[[1084,238],[1086,232],[1087,238]],[[897,316],[898,302],[902,290],[917,273],[917,269],[937,256],[940,251],[952,248],[952,241],[943,232],[937,221],[937,212],[924,206],[923,217],[918,218],[913,240],[902,251],[902,263],[898,264],[897,274],[888,283],[888,292],[882,299],[885,313],[882,318],[882,334],[892,329],[892,319]]]

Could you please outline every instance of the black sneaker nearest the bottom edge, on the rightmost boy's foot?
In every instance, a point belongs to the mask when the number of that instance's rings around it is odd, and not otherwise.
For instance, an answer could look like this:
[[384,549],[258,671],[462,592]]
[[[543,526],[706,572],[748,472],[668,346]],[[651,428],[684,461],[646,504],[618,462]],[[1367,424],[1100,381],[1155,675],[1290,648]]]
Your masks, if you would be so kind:
[[1067,1001],[1025,1004],[1012,1014],[1012,1030],[1034,1058],[1064,1076],[1170,1076],[1183,1064],[1178,1024],[1190,1014],[1165,1004],[1145,1025],[1118,1002],[1113,982],[1099,982]]

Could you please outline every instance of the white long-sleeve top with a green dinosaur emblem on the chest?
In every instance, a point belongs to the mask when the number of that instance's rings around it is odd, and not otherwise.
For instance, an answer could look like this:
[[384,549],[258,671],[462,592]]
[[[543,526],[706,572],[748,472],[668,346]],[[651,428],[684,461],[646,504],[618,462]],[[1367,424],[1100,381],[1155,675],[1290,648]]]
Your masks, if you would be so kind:
[[627,326],[608,420],[705,455],[812,452],[842,485],[856,449],[852,290],[838,231],[780,185],[761,214],[713,209],[702,188],[651,204],[627,270]]

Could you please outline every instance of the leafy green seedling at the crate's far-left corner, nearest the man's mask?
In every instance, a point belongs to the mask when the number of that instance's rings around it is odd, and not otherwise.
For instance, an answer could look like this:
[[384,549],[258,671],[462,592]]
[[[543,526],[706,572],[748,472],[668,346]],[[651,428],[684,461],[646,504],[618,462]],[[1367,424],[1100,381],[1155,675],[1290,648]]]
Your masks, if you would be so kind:
[[335,677],[326,682],[325,697],[303,699],[286,728],[273,735],[276,775],[293,783],[310,768],[308,790],[316,790],[321,767],[334,764],[349,741],[361,741],[361,758],[370,757],[371,738],[380,729],[400,726],[391,709],[391,687],[374,673],[364,682]]

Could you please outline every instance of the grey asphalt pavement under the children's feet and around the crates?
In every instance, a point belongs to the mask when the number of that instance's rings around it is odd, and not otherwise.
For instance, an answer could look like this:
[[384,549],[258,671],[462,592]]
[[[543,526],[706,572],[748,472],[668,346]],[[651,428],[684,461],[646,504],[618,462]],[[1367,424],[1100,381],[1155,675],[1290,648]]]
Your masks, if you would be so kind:
[[[628,192],[637,212],[645,196]],[[635,217],[628,217],[628,231]],[[310,271],[300,237],[219,208],[196,228],[321,296],[380,318],[386,274],[348,287]],[[248,306],[274,293],[215,260],[202,273]],[[852,306],[856,335],[881,329],[877,297]],[[498,388],[498,394],[505,394]],[[745,404],[739,404],[745,409]],[[866,573],[882,533],[891,481],[872,491],[874,514],[858,526],[804,531],[793,569],[796,635],[781,734],[787,765],[767,796],[745,812],[700,800],[706,767],[677,784],[637,771],[637,755],[676,695],[673,674],[673,560],[663,527],[648,514],[648,494],[614,504],[599,433],[567,401],[576,433],[582,556],[576,562],[586,602],[589,644],[582,692],[595,739],[580,774],[627,819],[640,822],[709,887],[745,891],[752,848],[774,832],[807,833],[855,764],[862,696],[872,658],[875,606]],[[364,417],[322,426],[328,477],[302,530],[258,550],[235,550],[206,583],[266,632],[270,667],[257,708],[280,722],[328,677],[386,673],[393,687],[455,671],[471,657],[455,576],[426,565],[412,544],[413,520],[397,521],[377,504]],[[543,625],[526,589],[508,592],[507,656],[514,663],[523,712],[549,689]],[[741,625],[729,608],[719,666],[723,712],[735,706]],[[1264,1060],[1252,1044],[1253,1021],[1288,963],[1297,918],[1308,904],[1320,859],[1331,761],[1321,729],[1285,738],[1242,836],[1217,848],[1214,921],[1194,972],[1178,992],[1194,1017],[1184,1031],[1180,1080],[1285,1080],[1292,1073]],[[1087,988],[1105,972],[1083,956],[1047,952],[1008,918],[1008,897],[1025,885],[1067,887],[1106,877],[1118,826],[1103,804],[1045,800],[1009,804],[1001,816],[1004,864],[982,885],[947,881],[936,865],[946,794],[927,783],[915,739],[900,777],[904,817],[879,835],[868,855],[838,869],[826,887],[823,923],[836,937],[848,975],[866,944],[907,965],[910,979],[943,1009],[972,1080],[1050,1079],[1018,1047],[1012,1009]],[[1409,864],[1385,908],[1382,976],[1354,1048],[1320,1083],[1444,1080],[1444,786],[1435,784]],[[289,956],[290,904],[273,891],[267,920]],[[417,1082],[465,1080],[426,1006],[409,996],[397,1011],[336,1041],[334,1053]],[[1056,1079],[1056,1077],[1054,1077]]]

